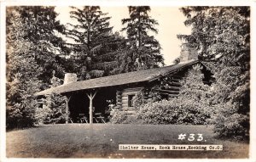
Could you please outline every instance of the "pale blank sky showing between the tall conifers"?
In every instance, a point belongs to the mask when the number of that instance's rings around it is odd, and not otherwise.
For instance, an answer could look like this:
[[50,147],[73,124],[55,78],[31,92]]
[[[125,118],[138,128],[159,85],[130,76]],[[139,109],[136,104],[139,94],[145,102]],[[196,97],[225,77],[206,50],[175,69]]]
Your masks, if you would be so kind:
[[[155,39],[160,42],[161,54],[165,59],[165,64],[170,65],[172,61],[180,55],[181,41],[177,39],[177,34],[190,34],[191,29],[183,24],[186,18],[179,10],[180,7],[151,7],[149,16],[154,20],[157,20],[159,25],[155,28],[158,29],[158,34],[155,34]],[[118,7],[101,7],[103,13],[108,13],[111,17],[110,25],[113,26],[113,32],[119,31],[119,33],[125,36],[125,33],[120,32],[124,27],[121,24],[121,20],[129,17],[128,8],[126,6]],[[58,13],[57,19],[62,24],[76,23],[75,20],[69,17],[70,8],[67,6],[57,6],[55,8]]]

